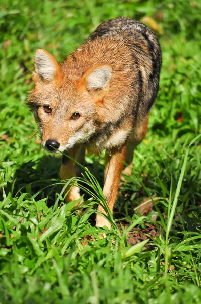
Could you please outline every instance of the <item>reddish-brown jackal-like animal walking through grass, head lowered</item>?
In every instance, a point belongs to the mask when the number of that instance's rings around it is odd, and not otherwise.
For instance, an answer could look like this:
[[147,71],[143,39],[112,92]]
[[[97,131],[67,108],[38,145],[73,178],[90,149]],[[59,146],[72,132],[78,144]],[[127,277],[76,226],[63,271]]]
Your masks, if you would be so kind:
[[[159,88],[161,48],[146,25],[118,17],[103,22],[62,65],[43,49],[35,54],[35,88],[27,101],[49,151],[84,162],[85,149],[106,150],[103,192],[112,211],[124,169],[147,132],[148,113]],[[63,156],[61,179],[76,176]],[[80,197],[74,186],[67,202]],[[104,213],[99,206],[100,213]],[[97,215],[97,226],[110,227]]]

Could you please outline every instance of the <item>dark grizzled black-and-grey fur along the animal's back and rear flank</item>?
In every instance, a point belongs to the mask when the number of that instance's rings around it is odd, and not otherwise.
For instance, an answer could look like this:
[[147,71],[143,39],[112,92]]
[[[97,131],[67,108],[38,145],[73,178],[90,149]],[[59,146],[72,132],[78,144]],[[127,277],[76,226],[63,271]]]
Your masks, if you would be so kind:
[[[132,55],[138,69],[138,81],[141,86],[137,110],[135,109],[134,113],[137,118],[138,111],[145,111],[144,114],[148,113],[156,99],[162,64],[161,47],[156,35],[150,28],[138,20],[126,17],[118,17],[103,22],[89,36],[89,39],[94,40],[97,37],[108,35],[122,35],[123,32],[125,34],[125,43],[132,50]],[[148,49],[148,53],[142,49],[143,45]],[[147,56],[152,61],[151,68],[146,66],[147,58],[144,57]]]

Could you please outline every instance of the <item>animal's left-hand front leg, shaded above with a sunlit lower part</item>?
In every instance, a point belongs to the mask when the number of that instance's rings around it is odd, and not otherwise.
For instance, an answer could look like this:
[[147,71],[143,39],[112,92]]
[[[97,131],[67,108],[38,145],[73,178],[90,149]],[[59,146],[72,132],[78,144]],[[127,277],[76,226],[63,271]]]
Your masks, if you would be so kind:
[[[67,152],[65,152],[65,154],[69,155],[74,160],[77,160],[81,150],[82,150],[81,146],[75,146],[72,149],[69,149]],[[63,155],[61,169],[60,169],[60,178],[62,180],[66,180],[75,176],[76,176],[75,162]],[[75,185],[72,186],[72,183],[75,183]],[[66,203],[69,203],[71,201],[80,198],[80,189],[76,186],[76,182],[74,180],[72,181],[72,183],[69,184],[65,189],[65,193],[67,193],[70,190],[65,198]],[[81,202],[75,205],[75,207],[79,206],[80,204]]]

